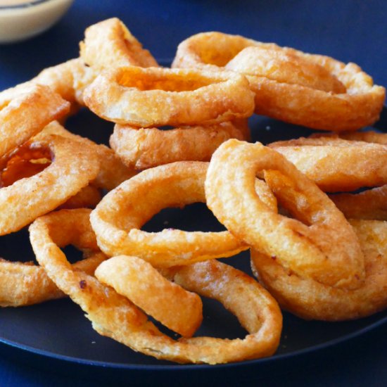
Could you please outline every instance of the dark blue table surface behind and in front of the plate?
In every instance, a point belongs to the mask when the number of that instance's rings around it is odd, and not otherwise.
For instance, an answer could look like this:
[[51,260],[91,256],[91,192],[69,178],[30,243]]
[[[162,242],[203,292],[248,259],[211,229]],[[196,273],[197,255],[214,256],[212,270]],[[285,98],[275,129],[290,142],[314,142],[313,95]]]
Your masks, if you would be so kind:
[[[153,56],[175,56],[177,44],[197,32],[222,31],[262,42],[276,42],[310,53],[355,62],[387,87],[387,1],[371,0],[174,0],[90,1],[75,0],[65,17],[48,32],[20,44],[0,46],[0,89],[30,79],[42,68],[78,54],[84,29],[118,16]],[[0,310],[1,329],[1,310]],[[227,381],[211,375],[201,384],[264,386],[387,386],[387,325],[369,334],[301,359],[276,370],[264,379],[257,374],[236,374]],[[85,375],[66,374],[63,369],[44,369],[25,364],[24,353],[9,360],[0,358],[0,386],[96,386]],[[64,366],[63,366],[64,367]],[[180,379],[180,377],[182,379]],[[184,376],[172,376],[171,384],[189,385]],[[194,381],[193,381],[194,382]],[[141,381],[128,376],[127,384]],[[155,385],[160,385],[155,377]]]

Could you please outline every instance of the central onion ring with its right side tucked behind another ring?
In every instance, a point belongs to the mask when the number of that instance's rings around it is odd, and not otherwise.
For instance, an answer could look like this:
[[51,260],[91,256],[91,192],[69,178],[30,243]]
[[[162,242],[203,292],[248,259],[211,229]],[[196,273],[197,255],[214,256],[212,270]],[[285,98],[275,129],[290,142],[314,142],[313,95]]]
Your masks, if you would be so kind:
[[205,203],[208,163],[180,161],[140,172],[110,191],[91,212],[91,225],[101,250],[135,255],[155,267],[189,265],[211,258],[227,258],[248,246],[228,231],[201,232],[140,228],[163,208]]

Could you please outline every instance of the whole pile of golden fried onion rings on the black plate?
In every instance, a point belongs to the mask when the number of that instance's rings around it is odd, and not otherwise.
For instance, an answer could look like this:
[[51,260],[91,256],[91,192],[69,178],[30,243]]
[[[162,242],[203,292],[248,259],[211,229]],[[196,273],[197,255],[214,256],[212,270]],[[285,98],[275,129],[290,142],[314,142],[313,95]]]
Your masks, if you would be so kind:
[[[79,58],[0,92],[0,238],[30,225],[37,261],[0,259],[0,306],[69,296],[103,336],[208,364],[274,354],[280,307],[328,321],[385,309],[387,135],[357,131],[384,98],[326,56],[205,32],[163,68],[118,18],[91,25]],[[80,108],[114,122],[110,147],[65,128]],[[331,133],[252,144],[253,113]],[[141,229],[196,202],[226,229]],[[257,280],[217,260],[248,249]],[[246,336],[196,336],[201,296]]]

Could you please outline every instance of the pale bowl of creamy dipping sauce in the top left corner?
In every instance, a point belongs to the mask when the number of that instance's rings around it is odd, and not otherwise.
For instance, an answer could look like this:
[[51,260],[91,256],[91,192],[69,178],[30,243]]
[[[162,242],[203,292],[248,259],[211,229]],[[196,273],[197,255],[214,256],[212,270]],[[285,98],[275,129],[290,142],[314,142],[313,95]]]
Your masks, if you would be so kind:
[[34,37],[54,25],[74,0],[0,1],[0,43]]

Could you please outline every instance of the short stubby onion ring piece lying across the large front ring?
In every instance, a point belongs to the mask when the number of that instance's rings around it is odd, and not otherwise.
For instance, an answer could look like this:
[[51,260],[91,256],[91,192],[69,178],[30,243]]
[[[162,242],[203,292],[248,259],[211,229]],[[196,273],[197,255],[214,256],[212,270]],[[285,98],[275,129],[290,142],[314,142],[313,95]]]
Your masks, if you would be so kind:
[[201,298],[165,279],[148,262],[119,255],[96,269],[96,278],[184,337],[194,335],[203,319]]

